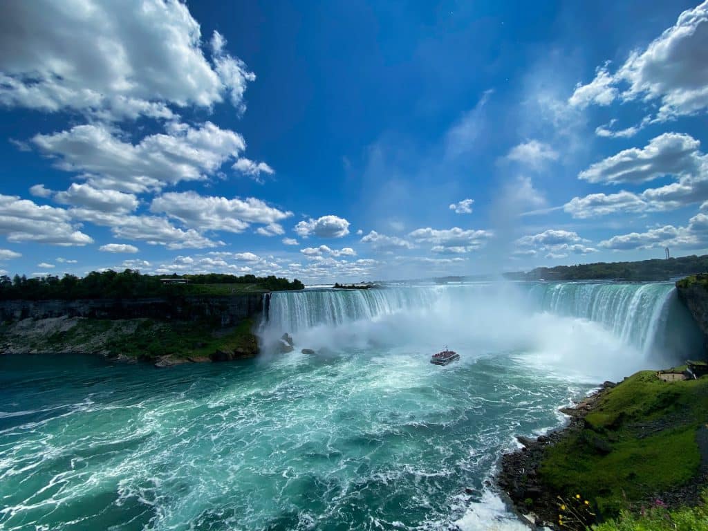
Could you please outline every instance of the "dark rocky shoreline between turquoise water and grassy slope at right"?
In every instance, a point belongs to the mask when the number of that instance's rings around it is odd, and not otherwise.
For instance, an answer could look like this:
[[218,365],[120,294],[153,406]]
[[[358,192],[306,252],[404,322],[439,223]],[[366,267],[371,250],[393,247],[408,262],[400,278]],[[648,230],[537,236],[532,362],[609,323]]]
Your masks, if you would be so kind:
[[[569,423],[536,439],[518,436],[523,445],[515,452],[501,457],[501,469],[496,475],[496,484],[508,496],[508,502],[515,513],[532,527],[551,527],[558,519],[557,493],[545,488],[539,479],[538,469],[545,448],[555,445],[571,433],[583,428],[583,418],[593,411],[595,405],[607,392],[615,387],[613,382],[605,382],[597,391],[589,394],[574,407],[561,409],[569,416]],[[601,444],[598,442],[598,444]]]

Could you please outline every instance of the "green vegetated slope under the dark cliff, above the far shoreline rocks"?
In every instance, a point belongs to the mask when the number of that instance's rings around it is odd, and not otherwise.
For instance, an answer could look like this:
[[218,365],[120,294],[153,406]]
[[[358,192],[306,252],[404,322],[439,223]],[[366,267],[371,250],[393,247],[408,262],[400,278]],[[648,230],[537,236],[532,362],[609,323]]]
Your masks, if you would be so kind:
[[251,333],[253,321],[245,319],[232,329],[219,329],[208,323],[160,322],[152,319],[78,319],[67,331],[59,331],[28,344],[35,351],[93,350],[127,358],[207,358],[216,350],[244,348],[257,351]]

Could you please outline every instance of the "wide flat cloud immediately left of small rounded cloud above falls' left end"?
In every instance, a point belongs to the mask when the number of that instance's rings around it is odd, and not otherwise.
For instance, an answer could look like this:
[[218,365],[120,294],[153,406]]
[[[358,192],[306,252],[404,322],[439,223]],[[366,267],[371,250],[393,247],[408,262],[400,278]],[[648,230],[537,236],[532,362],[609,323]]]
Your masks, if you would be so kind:
[[227,199],[196,192],[166,193],[152,200],[152,212],[179,219],[186,227],[202,230],[243,232],[251,223],[265,224],[265,236],[283,234],[278,222],[292,216],[256,198]]

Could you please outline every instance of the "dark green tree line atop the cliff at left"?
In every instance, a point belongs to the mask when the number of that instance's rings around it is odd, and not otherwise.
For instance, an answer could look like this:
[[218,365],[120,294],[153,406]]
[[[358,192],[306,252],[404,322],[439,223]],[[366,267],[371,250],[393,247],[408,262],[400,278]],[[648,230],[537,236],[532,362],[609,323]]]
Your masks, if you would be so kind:
[[[163,278],[188,280],[186,284],[163,282]],[[27,278],[25,275],[0,277],[0,299],[135,299],[139,297],[170,297],[190,295],[195,285],[205,284],[249,284],[264,291],[302,290],[304,285],[297,280],[278,278],[275,275],[143,275],[138,270],[126,269],[92,271],[83,278],[66,274],[62,278],[47,275]]]

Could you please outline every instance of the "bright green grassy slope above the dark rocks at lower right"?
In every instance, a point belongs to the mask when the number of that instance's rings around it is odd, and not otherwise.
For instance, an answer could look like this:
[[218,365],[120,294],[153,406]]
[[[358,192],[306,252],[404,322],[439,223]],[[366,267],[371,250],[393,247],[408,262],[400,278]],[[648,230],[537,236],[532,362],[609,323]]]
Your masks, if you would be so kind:
[[600,401],[583,430],[547,450],[539,472],[555,491],[581,493],[616,515],[697,474],[696,434],[706,422],[708,377],[666,383],[638,372]]

